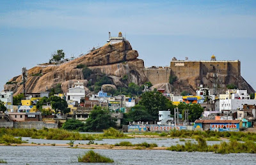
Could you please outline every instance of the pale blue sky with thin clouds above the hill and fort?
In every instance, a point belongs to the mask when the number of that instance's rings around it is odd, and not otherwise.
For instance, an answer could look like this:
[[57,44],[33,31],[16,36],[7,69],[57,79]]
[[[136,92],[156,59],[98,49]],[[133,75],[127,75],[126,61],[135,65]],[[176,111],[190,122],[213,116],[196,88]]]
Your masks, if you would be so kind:
[[172,57],[241,61],[256,89],[256,1],[0,1],[0,90],[21,68],[104,45],[119,31],[145,66]]

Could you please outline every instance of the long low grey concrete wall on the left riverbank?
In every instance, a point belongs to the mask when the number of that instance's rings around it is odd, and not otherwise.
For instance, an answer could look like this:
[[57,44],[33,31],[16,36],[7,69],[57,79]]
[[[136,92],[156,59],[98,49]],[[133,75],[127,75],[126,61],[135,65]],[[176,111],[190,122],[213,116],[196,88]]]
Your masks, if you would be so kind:
[[58,128],[57,123],[45,123],[45,122],[13,122],[13,127],[15,128],[35,128],[43,129],[47,128]]

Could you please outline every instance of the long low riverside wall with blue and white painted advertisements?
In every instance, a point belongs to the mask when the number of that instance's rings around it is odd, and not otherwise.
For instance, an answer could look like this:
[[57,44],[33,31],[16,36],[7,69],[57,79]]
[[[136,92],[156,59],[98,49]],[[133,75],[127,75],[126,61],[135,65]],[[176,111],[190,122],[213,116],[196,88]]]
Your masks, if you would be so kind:
[[146,131],[170,131],[172,129],[187,129],[186,126],[161,126],[161,125],[129,125],[128,132],[146,132]]

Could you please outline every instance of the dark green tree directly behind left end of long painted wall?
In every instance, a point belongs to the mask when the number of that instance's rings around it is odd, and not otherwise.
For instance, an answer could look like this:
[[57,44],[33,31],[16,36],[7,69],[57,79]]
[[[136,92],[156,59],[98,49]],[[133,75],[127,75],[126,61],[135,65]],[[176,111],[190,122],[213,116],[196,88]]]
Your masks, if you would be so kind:
[[140,104],[132,107],[132,110],[127,115],[128,122],[149,122],[154,121],[154,117],[148,114],[146,107]]

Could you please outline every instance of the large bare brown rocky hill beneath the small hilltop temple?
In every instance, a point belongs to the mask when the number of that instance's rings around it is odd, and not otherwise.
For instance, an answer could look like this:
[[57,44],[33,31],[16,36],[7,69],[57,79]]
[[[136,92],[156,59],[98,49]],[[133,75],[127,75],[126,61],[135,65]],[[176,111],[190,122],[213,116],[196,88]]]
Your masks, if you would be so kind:
[[[107,75],[116,86],[125,86],[129,82],[142,84],[148,79],[145,76],[144,61],[137,59],[138,52],[132,50],[129,41],[104,45],[89,54],[83,55],[73,61],[60,65],[35,66],[28,70],[28,81],[26,82],[26,92],[42,92],[46,87],[51,89],[56,84],[61,83],[61,89],[67,92],[70,82],[81,80],[86,86],[88,80],[84,80],[83,69],[78,65],[88,66],[93,71],[93,75]],[[127,80],[122,81],[122,78]],[[93,77],[90,77],[93,79]],[[13,77],[8,84],[4,85],[4,90],[13,90],[14,94],[23,91],[22,76]]]

